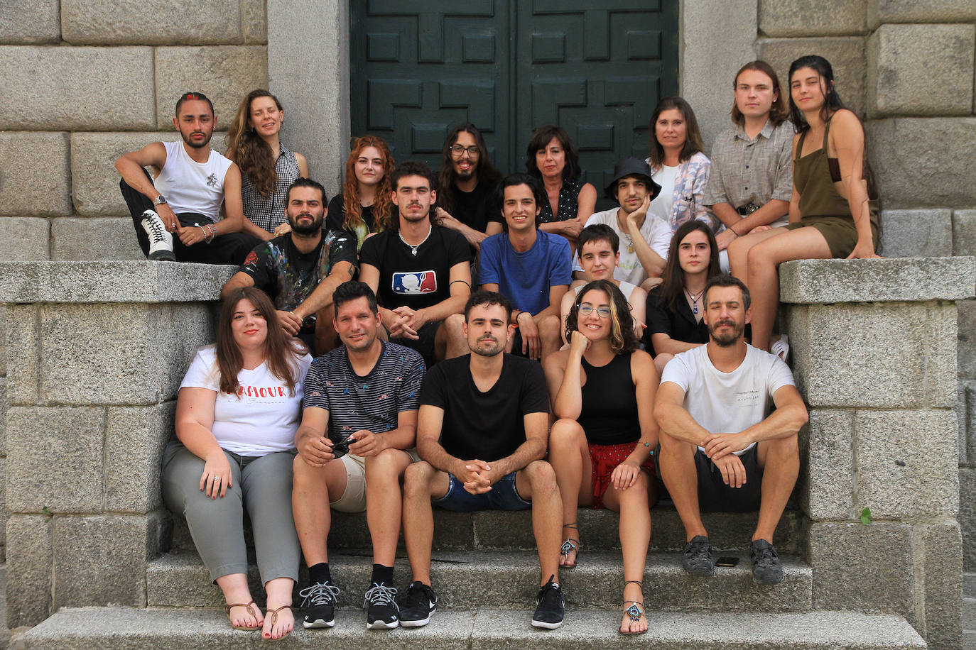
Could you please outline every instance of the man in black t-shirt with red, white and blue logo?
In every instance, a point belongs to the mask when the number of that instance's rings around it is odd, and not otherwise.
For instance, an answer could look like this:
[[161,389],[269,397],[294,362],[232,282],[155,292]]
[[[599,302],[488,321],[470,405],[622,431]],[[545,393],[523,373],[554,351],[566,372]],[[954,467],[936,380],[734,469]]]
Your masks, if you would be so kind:
[[431,217],[437,193],[427,165],[406,161],[390,183],[396,229],[363,243],[359,280],[376,291],[389,340],[421,353],[429,366],[467,351],[461,314],[471,290],[468,244]]

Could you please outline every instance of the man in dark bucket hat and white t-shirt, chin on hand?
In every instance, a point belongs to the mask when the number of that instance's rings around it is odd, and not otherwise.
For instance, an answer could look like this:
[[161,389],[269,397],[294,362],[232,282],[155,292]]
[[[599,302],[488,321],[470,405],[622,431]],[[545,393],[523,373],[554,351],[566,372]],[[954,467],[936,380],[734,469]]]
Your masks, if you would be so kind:
[[[651,178],[651,168],[644,161],[625,158],[617,163],[613,180],[604,189],[608,199],[615,199],[620,208],[595,212],[587,225],[603,223],[620,237],[620,261],[614,278],[645,290],[660,283],[665,259],[671,245],[671,227],[662,219],[648,214],[651,201],[661,192],[661,186]],[[574,260],[573,276],[583,278],[583,266]]]

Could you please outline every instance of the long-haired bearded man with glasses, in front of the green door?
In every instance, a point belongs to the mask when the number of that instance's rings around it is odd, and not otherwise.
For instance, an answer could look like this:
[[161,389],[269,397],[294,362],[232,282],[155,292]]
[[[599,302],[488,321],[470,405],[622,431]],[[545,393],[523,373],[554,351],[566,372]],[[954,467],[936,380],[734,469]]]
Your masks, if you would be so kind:
[[485,237],[502,232],[502,217],[494,205],[502,173],[491,163],[485,138],[469,122],[447,134],[442,155],[437,215],[478,249]]

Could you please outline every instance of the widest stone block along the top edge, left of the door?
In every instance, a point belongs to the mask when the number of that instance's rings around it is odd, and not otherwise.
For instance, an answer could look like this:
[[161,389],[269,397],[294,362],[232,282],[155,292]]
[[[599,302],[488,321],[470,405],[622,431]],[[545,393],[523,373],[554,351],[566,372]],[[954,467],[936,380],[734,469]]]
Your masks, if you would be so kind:
[[72,45],[205,45],[240,42],[236,0],[61,0],[62,38]]

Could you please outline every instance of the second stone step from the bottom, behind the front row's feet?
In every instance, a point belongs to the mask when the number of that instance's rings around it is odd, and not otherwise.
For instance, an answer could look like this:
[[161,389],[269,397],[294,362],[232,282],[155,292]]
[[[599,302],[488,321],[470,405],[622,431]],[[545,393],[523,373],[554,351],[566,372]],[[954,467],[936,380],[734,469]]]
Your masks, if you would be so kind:
[[[749,555],[735,567],[718,567],[712,578],[689,576],[677,554],[649,554],[644,571],[644,602],[654,611],[788,612],[812,607],[812,570],[792,555],[783,559],[784,580],[776,586],[752,582]],[[333,583],[342,589],[341,606],[362,605],[369,586],[372,560],[368,556],[334,554],[329,558]],[[539,589],[539,560],[532,552],[441,552],[434,554],[431,580],[446,607],[522,608]],[[410,580],[406,558],[397,558],[394,582],[404,588]],[[257,567],[250,572],[252,593],[263,593]],[[167,554],[149,563],[146,572],[150,607],[222,606],[224,598],[213,585],[196,554]],[[606,607],[621,599],[624,569],[619,552],[583,553],[579,566],[564,569],[560,582],[574,607]],[[307,585],[305,567],[300,585]],[[294,602],[301,604],[298,593]]]

